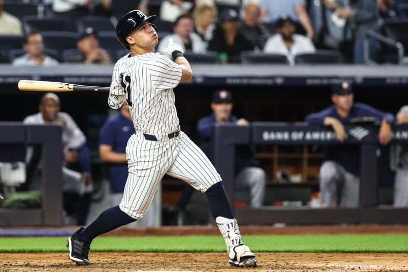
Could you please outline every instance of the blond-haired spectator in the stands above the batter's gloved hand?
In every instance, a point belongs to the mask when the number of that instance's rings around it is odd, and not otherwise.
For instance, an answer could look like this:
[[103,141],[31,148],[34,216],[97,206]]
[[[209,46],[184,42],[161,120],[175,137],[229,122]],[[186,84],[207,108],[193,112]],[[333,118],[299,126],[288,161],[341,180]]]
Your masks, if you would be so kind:
[[201,4],[196,6],[193,13],[194,32],[201,36],[207,45],[213,37],[217,8],[214,4]]

